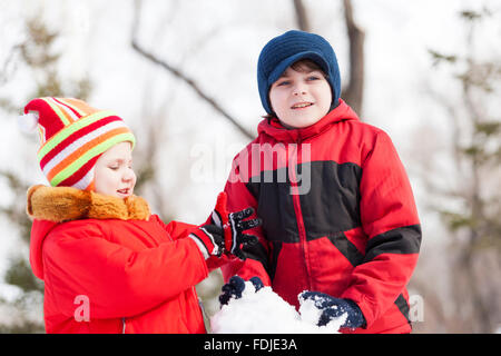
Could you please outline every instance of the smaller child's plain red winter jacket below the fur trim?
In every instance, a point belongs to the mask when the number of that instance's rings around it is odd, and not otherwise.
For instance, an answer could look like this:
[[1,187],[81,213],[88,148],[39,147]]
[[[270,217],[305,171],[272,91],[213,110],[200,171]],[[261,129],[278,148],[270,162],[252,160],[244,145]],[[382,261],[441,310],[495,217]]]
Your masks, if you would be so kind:
[[[50,189],[65,188],[45,187],[47,197]],[[29,210],[60,219],[47,214],[57,195],[47,197],[39,199],[45,210],[30,201]],[[45,281],[46,332],[205,333],[195,285],[208,270],[196,244],[184,238],[194,226],[164,225],[156,215],[115,217],[121,207],[110,201],[96,218],[33,221],[30,263]]]

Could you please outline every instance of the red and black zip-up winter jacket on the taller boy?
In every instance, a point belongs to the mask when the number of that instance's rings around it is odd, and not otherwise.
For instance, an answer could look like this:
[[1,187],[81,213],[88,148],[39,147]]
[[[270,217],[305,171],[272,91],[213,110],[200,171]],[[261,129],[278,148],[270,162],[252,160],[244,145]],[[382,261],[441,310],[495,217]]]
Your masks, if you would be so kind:
[[[411,186],[389,136],[340,100],[313,126],[265,119],[234,160],[228,209],[253,206],[263,226],[249,258],[222,270],[258,276],[298,307],[303,290],[354,300],[355,333],[409,333],[406,284],[421,228]],[[346,330],[348,332],[348,330]]]

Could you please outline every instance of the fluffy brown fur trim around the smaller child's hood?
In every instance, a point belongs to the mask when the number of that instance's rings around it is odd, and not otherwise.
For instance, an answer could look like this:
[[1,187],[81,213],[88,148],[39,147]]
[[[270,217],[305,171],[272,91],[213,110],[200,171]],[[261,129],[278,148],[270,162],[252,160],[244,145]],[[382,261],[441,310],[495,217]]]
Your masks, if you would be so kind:
[[80,219],[148,220],[148,202],[138,196],[121,199],[71,187],[32,186],[27,212],[31,219],[55,222]]

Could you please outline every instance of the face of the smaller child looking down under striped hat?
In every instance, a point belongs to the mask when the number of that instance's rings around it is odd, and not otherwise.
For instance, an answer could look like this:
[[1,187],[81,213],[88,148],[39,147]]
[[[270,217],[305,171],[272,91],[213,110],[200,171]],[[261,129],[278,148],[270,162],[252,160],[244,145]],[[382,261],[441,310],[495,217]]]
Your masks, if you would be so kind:
[[95,191],[107,196],[127,198],[132,195],[136,174],[132,170],[130,142],[109,148],[96,161]]

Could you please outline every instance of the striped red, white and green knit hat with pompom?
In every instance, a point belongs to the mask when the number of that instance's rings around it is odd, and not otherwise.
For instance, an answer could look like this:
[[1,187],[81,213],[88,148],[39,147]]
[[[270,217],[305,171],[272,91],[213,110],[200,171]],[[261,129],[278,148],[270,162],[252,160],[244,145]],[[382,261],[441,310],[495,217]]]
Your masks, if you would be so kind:
[[52,187],[94,190],[94,167],[110,147],[136,139],[115,112],[78,99],[38,98],[19,118],[24,130],[40,134],[38,160]]

